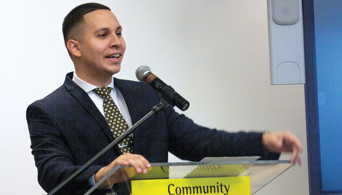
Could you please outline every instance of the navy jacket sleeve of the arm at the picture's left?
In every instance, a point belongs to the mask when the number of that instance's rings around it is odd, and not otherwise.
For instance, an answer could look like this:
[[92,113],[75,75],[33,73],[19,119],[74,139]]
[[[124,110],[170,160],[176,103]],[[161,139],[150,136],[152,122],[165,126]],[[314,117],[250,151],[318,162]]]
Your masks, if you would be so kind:
[[[27,108],[26,117],[32,154],[38,169],[38,182],[46,192],[49,192],[81,166],[74,164],[73,156],[64,142],[57,123],[42,105],[32,103]],[[79,190],[90,189],[88,179],[101,167],[90,166],[57,194],[67,194],[66,192],[76,194]]]

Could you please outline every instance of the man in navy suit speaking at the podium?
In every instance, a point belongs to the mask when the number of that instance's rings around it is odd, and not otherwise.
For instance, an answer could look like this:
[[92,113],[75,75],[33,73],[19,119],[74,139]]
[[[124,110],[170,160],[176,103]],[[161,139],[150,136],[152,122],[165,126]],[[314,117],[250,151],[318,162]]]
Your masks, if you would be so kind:
[[[110,9],[86,3],[69,12],[63,36],[75,71],[64,84],[27,108],[27,123],[38,181],[49,192],[78,170],[160,102],[144,82],[113,78],[126,49],[122,27]],[[192,161],[204,157],[261,156],[302,163],[302,145],[290,132],[228,133],[208,129],[165,108],[111,148],[58,194],[82,194],[115,166],[146,173],[149,163],[167,162],[168,151]],[[122,178],[109,177],[94,194],[125,194]]]

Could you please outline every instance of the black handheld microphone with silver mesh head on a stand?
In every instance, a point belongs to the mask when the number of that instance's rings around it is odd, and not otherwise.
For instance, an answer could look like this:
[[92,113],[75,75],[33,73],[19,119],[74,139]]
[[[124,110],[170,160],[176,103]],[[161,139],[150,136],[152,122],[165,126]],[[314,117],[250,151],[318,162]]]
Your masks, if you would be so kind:
[[153,89],[158,91],[166,101],[177,106],[179,109],[184,111],[189,108],[190,103],[180,94],[175,92],[171,86],[168,86],[165,82],[154,75],[148,66],[139,66],[135,70],[135,76],[138,80],[145,81]]

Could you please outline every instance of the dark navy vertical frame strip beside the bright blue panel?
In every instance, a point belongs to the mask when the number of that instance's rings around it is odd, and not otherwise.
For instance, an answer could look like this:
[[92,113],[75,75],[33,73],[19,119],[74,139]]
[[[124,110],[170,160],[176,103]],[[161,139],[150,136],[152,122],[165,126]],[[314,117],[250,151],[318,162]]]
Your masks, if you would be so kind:
[[322,189],[322,182],[319,148],[314,2],[313,0],[303,0],[302,3],[306,80],[304,89],[309,191],[310,195],[319,195]]

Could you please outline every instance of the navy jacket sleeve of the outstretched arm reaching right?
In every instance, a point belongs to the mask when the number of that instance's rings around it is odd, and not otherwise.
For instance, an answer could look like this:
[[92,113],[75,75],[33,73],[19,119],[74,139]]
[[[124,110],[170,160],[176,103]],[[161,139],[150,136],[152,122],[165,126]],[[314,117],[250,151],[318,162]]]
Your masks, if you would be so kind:
[[205,157],[260,156],[259,160],[276,160],[279,154],[262,146],[262,133],[228,133],[199,126],[173,108],[165,111],[169,128],[169,151],[192,161]]

